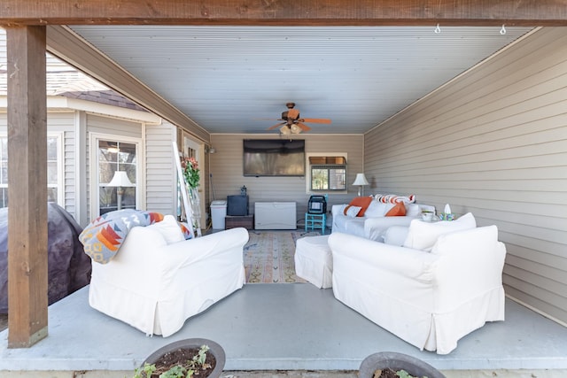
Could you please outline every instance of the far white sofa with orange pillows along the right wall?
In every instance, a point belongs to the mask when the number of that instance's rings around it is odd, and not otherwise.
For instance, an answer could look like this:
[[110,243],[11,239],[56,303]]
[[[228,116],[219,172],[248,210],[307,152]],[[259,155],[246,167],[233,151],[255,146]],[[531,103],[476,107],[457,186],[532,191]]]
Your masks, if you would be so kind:
[[392,209],[395,204],[381,203],[373,199],[364,216],[349,216],[345,214],[348,204],[334,204],[331,207],[332,228],[331,233],[342,232],[345,234],[365,237],[377,242],[383,241],[384,233],[392,226],[409,226],[409,223],[416,218],[420,218],[423,210],[435,212],[435,206],[428,204],[408,204],[406,215],[387,217],[385,214]]

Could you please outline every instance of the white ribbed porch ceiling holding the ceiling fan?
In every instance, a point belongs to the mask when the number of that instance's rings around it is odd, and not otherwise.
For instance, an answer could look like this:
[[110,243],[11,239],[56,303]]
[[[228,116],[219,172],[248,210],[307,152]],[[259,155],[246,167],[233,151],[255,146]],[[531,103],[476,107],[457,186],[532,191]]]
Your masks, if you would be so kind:
[[287,102],[332,120],[310,133],[364,133],[531,30],[71,28],[208,132],[269,134]]

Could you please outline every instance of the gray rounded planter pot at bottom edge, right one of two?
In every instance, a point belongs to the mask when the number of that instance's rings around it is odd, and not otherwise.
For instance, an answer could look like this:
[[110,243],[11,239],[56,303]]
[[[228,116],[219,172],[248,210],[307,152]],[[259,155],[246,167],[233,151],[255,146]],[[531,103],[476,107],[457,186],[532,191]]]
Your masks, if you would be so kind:
[[435,367],[426,364],[421,359],[408,356],[407,354],[393,351],[383,351],[369,355],[362,360],[359,369],[359,378],[373,378],[378,369],[391,368],[394,371],[405,370],[409,374],[422,378],[446,378]]

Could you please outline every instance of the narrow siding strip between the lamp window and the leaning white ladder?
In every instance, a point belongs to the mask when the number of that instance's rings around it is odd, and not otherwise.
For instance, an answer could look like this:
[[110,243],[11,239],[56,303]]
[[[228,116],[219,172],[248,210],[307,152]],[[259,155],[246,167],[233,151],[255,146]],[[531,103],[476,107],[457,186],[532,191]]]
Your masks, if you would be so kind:
[[174,139],[175,127],[169,123],[145,127],[146,209],[150,212],[176,212]]

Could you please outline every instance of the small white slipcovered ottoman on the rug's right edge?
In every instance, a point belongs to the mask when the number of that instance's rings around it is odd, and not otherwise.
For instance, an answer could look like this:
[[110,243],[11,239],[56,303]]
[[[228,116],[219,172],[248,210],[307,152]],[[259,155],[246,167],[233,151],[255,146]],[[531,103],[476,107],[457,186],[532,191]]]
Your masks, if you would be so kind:
[[333,258],[327,240],[329,235],[307,236],[295,246],[295,274],[317,288],[332,287]]

